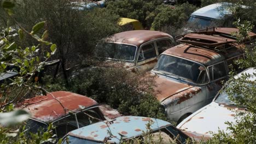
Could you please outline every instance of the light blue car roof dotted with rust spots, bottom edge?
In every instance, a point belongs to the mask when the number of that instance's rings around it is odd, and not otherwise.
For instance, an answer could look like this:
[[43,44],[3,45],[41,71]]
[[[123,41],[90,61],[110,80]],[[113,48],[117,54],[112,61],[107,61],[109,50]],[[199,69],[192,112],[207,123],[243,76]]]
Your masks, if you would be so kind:
[[107,121],[94,123],[73,130],[69,132],[68,135],[78,137],[79,139],[103,142],[106,137],[111,136],[109,134],[111,133],[113,137],[108,140],[108,142],[119,143],[120,139],[129,139],[131,137],[142,135],[143,132],[147,131],[146,124],[148,124],[149,121],[154,122],[150,125],[152,130],[157,130],[171,124],[156,118],[123,116],[115,118],[113,123]]

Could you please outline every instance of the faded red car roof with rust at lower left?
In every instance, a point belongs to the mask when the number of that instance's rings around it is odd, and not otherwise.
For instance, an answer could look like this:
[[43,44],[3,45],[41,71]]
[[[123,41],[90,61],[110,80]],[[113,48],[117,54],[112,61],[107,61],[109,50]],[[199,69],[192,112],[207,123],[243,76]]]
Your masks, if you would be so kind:
[[[55,97],[55,99],[53,98]],[[66,108],[66,113],[61,104]],[[31,113],[33,119],[37,121],[50,123],[59,118],[67,115],[69,111],[83,110],[81,106],[85,108],[96,106],[97,102],[84,95],[58,91],[51,92],[43,96],[37,96],[31,99],[26,99],[17,105],[18,108],[22,108]]]

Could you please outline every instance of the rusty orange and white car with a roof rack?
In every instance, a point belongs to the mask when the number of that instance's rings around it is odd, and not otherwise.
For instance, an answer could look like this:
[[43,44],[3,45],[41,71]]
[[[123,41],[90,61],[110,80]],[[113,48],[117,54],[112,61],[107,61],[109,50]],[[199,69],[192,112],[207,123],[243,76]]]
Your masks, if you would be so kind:
[[[154,90],[168,119],[180,123],[211,103],[222,81],[228,79],[228,65],[244,57],[232,32],[238,29],[217,27],[182,35],[177,41],[183,44],[160,55],[151,75],[156,75]],[[256,34],[249,36],[255,38]]]

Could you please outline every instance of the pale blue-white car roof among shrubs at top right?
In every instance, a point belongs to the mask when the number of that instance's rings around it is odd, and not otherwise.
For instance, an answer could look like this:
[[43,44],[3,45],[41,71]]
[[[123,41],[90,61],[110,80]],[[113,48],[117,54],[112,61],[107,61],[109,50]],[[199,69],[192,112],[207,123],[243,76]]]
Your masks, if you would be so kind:
[[220,19],[223,15],[231,14],[229,9],[225,9],[225,7],[230,4],[231,3],[215,3],[207,5],[206,7],[194,11],[191,15]]

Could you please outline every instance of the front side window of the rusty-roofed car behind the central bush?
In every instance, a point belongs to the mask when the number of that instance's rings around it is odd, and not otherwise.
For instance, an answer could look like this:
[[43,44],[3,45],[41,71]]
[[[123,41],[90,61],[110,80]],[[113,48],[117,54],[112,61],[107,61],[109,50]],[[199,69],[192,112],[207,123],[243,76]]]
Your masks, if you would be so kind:
[[144,61],[149,58],[156,57],[156,51],[154,43],[150,43],[142,46],[142,49],[139,51],[138,62]]

